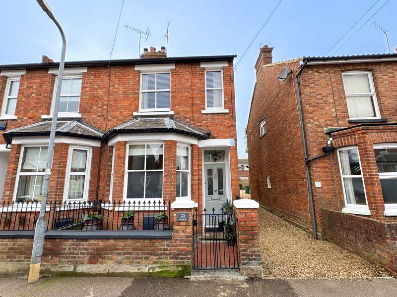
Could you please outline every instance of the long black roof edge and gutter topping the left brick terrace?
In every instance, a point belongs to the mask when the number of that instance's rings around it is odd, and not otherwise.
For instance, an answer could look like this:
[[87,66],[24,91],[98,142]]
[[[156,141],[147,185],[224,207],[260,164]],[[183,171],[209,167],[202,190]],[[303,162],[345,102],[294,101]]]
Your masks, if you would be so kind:
[[[232,61],[237,55],[212,55],[212,56],[191,56],[191,57],[156,57],[139,59],[120,60],[93,60],[93,61],[69,61],[65,67],[99,67],[99,66],[120,66],[120,65],[143,65],[143,64],[167,64],[167,63],[194,63],[194,62],[216,62]],[[58,68],[59,62],[51,63],[27,63],[0,65],[0,70],[18,69],[49,69]]]

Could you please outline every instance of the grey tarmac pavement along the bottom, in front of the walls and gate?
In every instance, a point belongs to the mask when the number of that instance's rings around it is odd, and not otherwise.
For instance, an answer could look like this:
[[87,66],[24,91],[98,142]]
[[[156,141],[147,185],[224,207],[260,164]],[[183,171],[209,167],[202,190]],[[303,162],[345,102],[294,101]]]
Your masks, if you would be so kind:
[[52,277],[28,285],[26,278],[0,278],[0,297],[385,297],[397,280],[265,279],[244,281],[166,278]]

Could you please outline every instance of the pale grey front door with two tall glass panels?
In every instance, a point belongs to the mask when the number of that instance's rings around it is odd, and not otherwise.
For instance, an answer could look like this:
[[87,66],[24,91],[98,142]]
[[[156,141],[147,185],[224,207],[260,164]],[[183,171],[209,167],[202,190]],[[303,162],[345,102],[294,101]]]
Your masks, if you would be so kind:
[[206,213],[222,213],[222,204],[226,202],[225,164],[205,165],[205,208]]

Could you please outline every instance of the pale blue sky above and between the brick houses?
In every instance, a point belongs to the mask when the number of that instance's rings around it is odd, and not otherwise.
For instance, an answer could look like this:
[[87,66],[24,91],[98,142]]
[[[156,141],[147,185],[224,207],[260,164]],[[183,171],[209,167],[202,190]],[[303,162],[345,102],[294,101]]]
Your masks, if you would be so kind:
[[[61,42],[55,25],[35,0],[0,0],[0,64],[39,62],[42,54],[59,60]],[[143,47],[165,46],[171,21],[168,56],[244,53],[279,0],[125,0],[112,59],[137,58],[138,37],[124,28],[150,27]],[[303,55],[324,55],[376,0],[282,0],[235,73],[239,155],[255,84],[254,64],[260,44],[274,47],[273,61]],[[66,60],[108,59],[122,0],[48,0],[68,40]],[[386,0],[372,10],[340,43],[343,44]],[[373,25],[389,30],[397,43],[397,1],[390,0],[337,54],[383,53],[384,36]],[[335,47],[330,54],[339,46]],[[397,48],[393,47],[392,51]]]

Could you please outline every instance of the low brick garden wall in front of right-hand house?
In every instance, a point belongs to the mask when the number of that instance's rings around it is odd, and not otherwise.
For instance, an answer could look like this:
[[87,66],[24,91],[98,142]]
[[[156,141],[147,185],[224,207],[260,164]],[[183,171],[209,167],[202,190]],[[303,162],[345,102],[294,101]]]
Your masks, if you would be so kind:
[[323,209],[327,239],[397,273],[397,223]]

